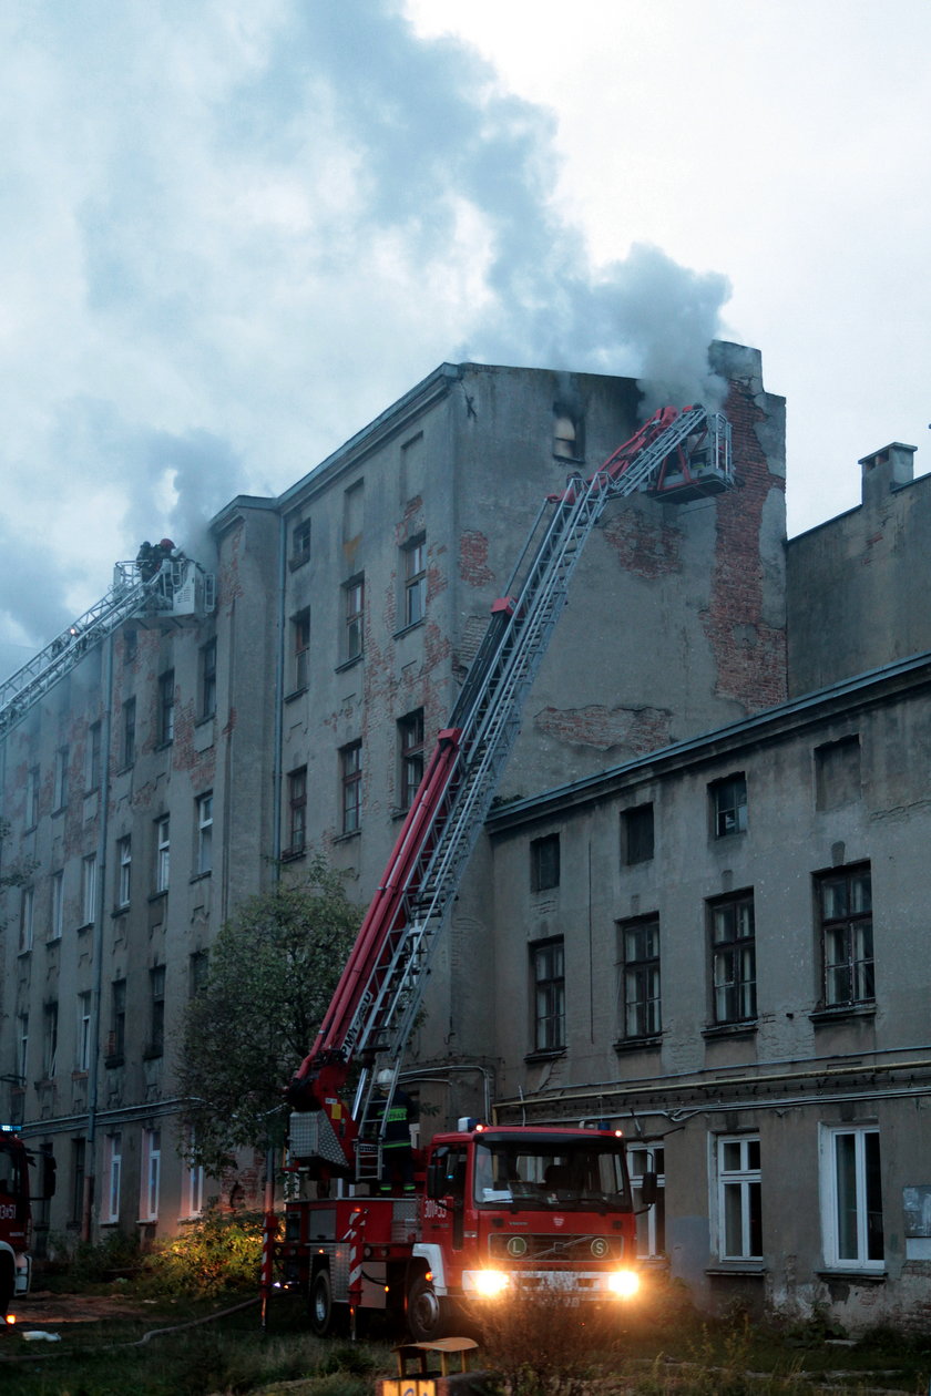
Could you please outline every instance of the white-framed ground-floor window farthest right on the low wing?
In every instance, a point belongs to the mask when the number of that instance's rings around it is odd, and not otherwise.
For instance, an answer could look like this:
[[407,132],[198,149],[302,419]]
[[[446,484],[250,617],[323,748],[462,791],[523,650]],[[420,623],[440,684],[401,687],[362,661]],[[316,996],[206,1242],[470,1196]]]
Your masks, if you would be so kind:
[[884,1269],[879,1131],[822,1127],[821,1216],[825,1265]]

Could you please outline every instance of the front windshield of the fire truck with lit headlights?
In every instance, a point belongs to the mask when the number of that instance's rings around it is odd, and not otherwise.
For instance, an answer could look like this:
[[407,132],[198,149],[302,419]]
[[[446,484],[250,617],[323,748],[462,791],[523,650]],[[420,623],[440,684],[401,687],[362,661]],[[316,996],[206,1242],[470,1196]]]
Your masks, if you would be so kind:
[[630,1209],[624,1152],[611,1145],[479,1145],[473,1192],[479,1206]]

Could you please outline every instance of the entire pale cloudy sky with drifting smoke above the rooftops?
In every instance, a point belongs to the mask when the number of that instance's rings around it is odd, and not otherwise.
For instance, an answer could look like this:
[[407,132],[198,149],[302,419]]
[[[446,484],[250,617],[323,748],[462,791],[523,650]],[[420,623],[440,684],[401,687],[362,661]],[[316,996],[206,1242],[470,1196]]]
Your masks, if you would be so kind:
[[0,642],[442,360],[691,396],[752,343],[790,533],[888,441],[924,473],[930,40],[927,0],[0,0]]

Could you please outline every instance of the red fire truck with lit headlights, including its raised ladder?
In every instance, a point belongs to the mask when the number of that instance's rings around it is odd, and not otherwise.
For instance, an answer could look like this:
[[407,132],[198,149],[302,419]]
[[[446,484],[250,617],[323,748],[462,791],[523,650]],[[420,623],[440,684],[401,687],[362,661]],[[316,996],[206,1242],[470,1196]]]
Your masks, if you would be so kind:
[[[405,1185],[388,1167],[395,1111],[384,1101],[396,1099],[433,949],[592,529],[611,500],[635,491],[677,501],[731,484],[727,420],[702,406],[660,409],[595,475],[575,475],[544,500],[491,607],[317,1040],[286,1090],[290,1191],[317,1195],[286,1202],[281,1242],[267,1215],[262,1284],[267,1297],[278,1261],[285,1286],[308,1297],[318,1335],[341,1319],[355,1335],[360,1316],[381,1309],[429,1342],[505,1291],[560,1289],[574,1302],[636,1294],[620,1131],[462,1120],[417,1152]],[[648,1174],[643,1205],[653,1189]]]

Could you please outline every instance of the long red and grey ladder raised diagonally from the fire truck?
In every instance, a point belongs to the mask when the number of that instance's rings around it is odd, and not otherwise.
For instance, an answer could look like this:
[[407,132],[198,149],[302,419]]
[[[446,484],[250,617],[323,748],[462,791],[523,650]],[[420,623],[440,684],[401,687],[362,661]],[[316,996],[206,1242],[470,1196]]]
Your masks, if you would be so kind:
[[[723,415],[663,408],[595,475],[574,475],[544,500],[507,592],[491,607],[317,1040],[286,1090],[290,1156],[311,1175],[317,1170],[363,1181],[378,1174],[378,1143],[357,1138],[374,1093],[371,1068],[382,1057],[394,1089],[437,938],[592,529],[613,500],[636,491],[684,501],[731,486]],[[353,1060],[362,1069],[348,1110],[342,1092]]]

